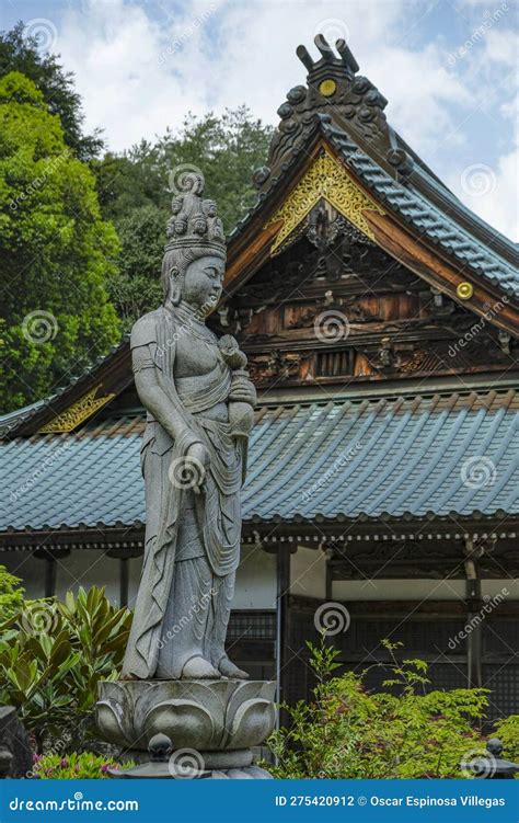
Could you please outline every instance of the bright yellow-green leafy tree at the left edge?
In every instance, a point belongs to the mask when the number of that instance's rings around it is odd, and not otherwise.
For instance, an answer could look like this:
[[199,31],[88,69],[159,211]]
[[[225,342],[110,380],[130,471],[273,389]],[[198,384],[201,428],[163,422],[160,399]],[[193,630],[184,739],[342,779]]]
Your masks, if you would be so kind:
[[106,288],[118,240],[59,117],[20,72],[0,80],[2,410],[47,396],[119,339]]

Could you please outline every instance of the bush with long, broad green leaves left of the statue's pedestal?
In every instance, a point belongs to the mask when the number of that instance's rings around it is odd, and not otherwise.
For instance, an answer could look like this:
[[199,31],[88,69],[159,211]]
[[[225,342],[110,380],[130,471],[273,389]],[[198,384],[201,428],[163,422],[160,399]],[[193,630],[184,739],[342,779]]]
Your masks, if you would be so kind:
[[37,752],[80,748],[92,730],[100,681],[116,679],[131,613],[104,588],[65,602],[26,602],[0,626],[0,705],[15,706]]

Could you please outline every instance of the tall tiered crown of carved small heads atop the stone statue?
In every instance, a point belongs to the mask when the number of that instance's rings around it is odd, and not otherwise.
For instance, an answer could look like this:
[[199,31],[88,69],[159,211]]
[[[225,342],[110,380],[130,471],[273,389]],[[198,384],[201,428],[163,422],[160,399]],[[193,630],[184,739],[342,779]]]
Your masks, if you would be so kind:
[[223,226],[215,201],[204,199],[205,180],[201,172],[186,172],[181,179],[185,194],[173,197],[172,217],[168,221],[166,251],[201,247],[208,252],[226,253]]

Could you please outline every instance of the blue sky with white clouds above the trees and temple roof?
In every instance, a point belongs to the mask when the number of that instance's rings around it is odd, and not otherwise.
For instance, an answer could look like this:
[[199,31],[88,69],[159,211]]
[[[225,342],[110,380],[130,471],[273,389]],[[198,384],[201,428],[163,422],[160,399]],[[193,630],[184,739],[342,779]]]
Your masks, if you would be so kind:
[[192,111],[246,103],[277,123],[304,82],[295,49],[344,37],[392,126],[478,215],[517,240],[517,0],[0,0],[61,55],[85,127],[129,148]]

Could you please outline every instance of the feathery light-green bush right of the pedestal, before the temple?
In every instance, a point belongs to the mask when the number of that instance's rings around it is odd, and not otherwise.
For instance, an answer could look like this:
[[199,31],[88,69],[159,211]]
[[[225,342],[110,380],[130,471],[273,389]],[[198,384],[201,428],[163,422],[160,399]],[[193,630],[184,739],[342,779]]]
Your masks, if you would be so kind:
[[[460,763],[485,743],[474,724],[487,705],[485,689],[425,691],[427,664],[392,654],[388,690],[369,693],[366,670],[357,675],[339,667],[338,652],[324,642],[308,644],[318,676],[313,700],[284,706],[289,728],[268,740],[280,778],[446,778],[462,777]],[[397,694],[395,691],[397,690]]]

